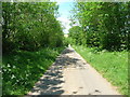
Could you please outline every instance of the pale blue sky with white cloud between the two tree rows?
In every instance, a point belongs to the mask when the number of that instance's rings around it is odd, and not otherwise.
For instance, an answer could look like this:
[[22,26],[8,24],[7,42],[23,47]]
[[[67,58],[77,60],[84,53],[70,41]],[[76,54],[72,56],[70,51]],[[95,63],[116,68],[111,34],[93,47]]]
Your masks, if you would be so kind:
[[72,0],[69,1],[57,0],[57,4],[58,4],[58,13],[60,13],[60,17],[57,17],[57,20],[62,22],[62,25],[65,27],[65,29],[63,30],[64,33],[68,33],[68,29],[70,28],[69,26],[70,10],[74,6],[74,2]]

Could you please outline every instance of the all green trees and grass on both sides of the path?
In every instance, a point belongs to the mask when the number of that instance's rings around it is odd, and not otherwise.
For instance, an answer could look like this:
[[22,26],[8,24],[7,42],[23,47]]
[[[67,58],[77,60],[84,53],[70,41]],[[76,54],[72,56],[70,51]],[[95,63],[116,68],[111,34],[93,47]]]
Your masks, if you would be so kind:
[[75,2],[69,38],[64,38],[55,2],[2,2],[2,94],[27,94],[70,43],[127,95],[129,6],[130,2]]

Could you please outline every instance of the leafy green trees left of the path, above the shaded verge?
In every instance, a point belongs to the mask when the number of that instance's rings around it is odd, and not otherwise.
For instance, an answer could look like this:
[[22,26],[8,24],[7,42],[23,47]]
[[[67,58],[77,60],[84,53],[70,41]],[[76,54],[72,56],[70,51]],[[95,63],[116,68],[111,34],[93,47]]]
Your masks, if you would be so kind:
[[3,53],[63,45],[55,2],[2,2]]

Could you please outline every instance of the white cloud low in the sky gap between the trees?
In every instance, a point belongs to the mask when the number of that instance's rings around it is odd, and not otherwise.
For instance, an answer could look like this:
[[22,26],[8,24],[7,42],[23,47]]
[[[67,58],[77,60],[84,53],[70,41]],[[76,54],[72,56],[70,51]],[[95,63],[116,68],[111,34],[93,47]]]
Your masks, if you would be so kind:
[[70,20],[66,17],[57,17],[57,20],[62,22],[62,25],[65,27],[64,33],[68,33]]

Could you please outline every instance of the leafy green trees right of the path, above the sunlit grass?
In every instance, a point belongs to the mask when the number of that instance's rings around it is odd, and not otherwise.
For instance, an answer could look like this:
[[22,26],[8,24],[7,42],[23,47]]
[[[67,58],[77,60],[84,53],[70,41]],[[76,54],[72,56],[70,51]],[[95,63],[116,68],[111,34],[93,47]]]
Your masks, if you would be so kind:
[[76,2],[69,29],[76,44],[108,51],[128,50],[130,2]]

